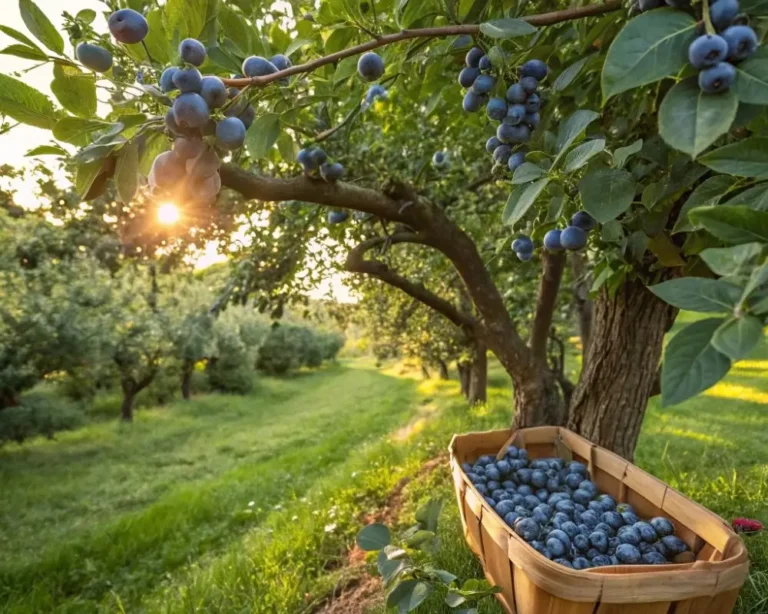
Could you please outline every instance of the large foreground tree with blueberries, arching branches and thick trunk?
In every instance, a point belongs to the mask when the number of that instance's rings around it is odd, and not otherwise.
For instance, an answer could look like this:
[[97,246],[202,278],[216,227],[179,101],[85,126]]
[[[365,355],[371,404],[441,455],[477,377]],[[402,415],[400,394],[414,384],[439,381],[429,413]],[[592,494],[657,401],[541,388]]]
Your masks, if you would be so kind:
[[[278,216],[263,238],[303,250],[296,283],[308,246],[333,243],[326,261],[487,347],[518,426],[568,424],[631,458],[659,379],[677,403],[762,336],[764,0],[105,4],[65,14],[69,45],[32,0],[36,40],[2,28],[2,53],[53,70],[60,106],[0,75],[0,112],[57,141],[30,154],[75,146],[85,199],[110,180],[126,208],[171,199],[190,233],[212,211]],[[434,278],[398,269],[425,252]],[[568,260],[594,278],[575,389],[547,360]],[[525,336],[507,300],[522,267],[541,269]],[[712,317],[662,360],[677,309]]]

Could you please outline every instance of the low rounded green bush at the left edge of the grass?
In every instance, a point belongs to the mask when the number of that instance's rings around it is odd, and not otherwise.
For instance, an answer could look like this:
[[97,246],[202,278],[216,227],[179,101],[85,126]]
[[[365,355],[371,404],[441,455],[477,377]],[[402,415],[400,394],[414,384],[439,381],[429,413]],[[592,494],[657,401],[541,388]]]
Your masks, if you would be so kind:
[[83,411],[63,398],[48,394],[29,394],[16,407],[0,410],[0,446],[9,442],[77,428],[85,422]]

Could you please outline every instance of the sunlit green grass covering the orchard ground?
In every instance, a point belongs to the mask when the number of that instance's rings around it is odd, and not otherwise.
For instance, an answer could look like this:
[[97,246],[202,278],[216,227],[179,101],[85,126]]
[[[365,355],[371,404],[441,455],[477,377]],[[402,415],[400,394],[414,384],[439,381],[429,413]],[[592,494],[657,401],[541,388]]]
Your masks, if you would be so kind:
[[[508,423],[497,365],[489,384],[488,404],[469,410],[455,380],[347,360],[259,378],[245,397],[143,410],[132,426],[94,422],[5,446],[0,611],[311,612],[364,573],[347,565],[354,535],[408,477],[398,520],[442,496],[438,566],[479,577],[446,463],[419,468],[452,433]],[[766,408],[763,344],[705,394],[667,409],[653,400],[636,462],[726,519],[768,522]],[[768,610],[768,533],[746,541],[737,612],[758,614]],[[419,611],[450,610],[434,600]],[[480,612],[501,609],[488,601]]]

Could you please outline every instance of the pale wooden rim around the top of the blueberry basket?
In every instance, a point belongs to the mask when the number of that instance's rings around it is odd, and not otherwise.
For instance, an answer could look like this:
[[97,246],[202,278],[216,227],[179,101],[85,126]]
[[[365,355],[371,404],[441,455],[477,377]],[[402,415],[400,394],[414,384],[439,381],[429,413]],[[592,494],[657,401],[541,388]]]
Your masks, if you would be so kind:
[[[699,508],[699,511],[706,513],[709,516],[709,519],[713,523],[717,523],[722,529],[724,529],[728,534],[730,539],[728,540],[729,544],[729,552],[723,552],[723,560],[721,561],[695,561],[693,563],[679,563],[679,564],[671,564],[671,565],[613,565],[610,567],[599,567],[599,568],[591,568],[591,569],[584,569],[584,570],[575,570],[575,569],[569,569],[568,567],[565,567],[563,565],[559,565],[548,558],[546,558],[544,555],[542,555],[540,552],[538,552],[535,548],[533,548],[528,542],[523,540],[515,531],[512,530],[509,525],[507,525],[506,522],[499,516],[499,514],[496,512],[495,509],[493,509],[488,503],[485,501],[483,495],[480,494],[480,492],[475,488],[474,484],[470,481],[470,479],[467,477],[464,470],[461,468],[461,463],[456,457],[456,446],[457,443],[467,436],[475,435],[475,436],[482,436],[482,435],[499,435],[501,433],[508,433],[509,437],[507,439],[507,443],[502,446],[502,449],[506,448],[508,445],[510,445],[510,442],[512,438],[517,433],[531,433],[535,432],[537,430],[543,431],[547,430],[550,431],[551,429],[557,429],[556,432],[567,432],[571,436],[578,437],[579,439],[582,439],[584,442],[588,443],[590,446],[597,448],[599,450],[604,450],[605,452],[608,452],[609,454],[612,454],[605,448],[602,448],[600,446],[597,446],[596,444],[593,444],[592,442],[589,442],[588,440],[584,439],[583,437],[577,435],[573,431],[570,431],[566,429],[565,427],[531,427],[527,429],[496,429],[496,430],[488,430],[488,431],[469,431],[462,434],[454,434],[451,442],[448,446],[448,451],[450,453],[450,463],[451,467],[454,473],[458,473],[458,475],[461,477],[461,480],[463,484],[466,487],[466,491],[472,493],[472,495],[477,499],[476,502],[473,502],[475,506],[479,504],[479,506],[482,508],[482,516],[488,517],[488,514],[490,514],[490,518],[493,520],[494,529],[500,530],[503,533],[505,533],[509,538],[509,556],[511,558],[511,551],[514,549],[516,554],[518,556],[523,556],[525,561],[524,569],[526,573],[532,573],[533,576],[537,576],[540,578],[546,578],[550,581],[547,582],[547,584],[557,584],[558,582],[567,581],[567,583],[571,584],[576,581],[581,581],[582,583],[584,581],[587,581],[589,583],[597,582],[599,587],[599,593],[605,593],[606,591],[610,591],[611,588],[615,589],[626,589],[627,588],[627,578],[631,578],[633,582],[643,583],[643,581],[653,580],[655,582],[662,581],[664,578],[667,578],[669,580],[674,579],[676,583],[680,583],[680,585],[684,584],[686,580],[690,577],[691,579],[696,579],[697,583],[700,583],[701,581],[701,575],[702,573],[706,573],[708,575],[716,574],[713,578],[713,586],[711,587],[711,594],[717,594],[721,592],[725,592],[727,590],[732,590],[735,588],[740,588],[746,579],[746,575],[749,569],[749,558],[747,555],[747,550],[744,545],[743,540],[736,534],[735,531],[728,525],[728,523],[725,522],[723,518],[715,514],[714,512],[708,510],[707,508],[701,506],[700,504],[696,503],[692,499],[686,497],[682,493],[679,493],[677,490],[673,489],[668,484],[661,482],[664,484],[664,486],[669,489],[670,491],[677,493],[680,497],[683,497],[686,502],[690,503],[691,505],[696,506]],[[628,463],[628,465],[631,465],[634,470],[642,472],[643,474],[650,476],[654,480],[657,480],[657,478],[654,478],[651,476],[651,474],[643,471],[633,463],[630,463],[629,461],[625,461]],[[455,488],[459,489],[458,484],[455,484]],[[461,494],[461,493],[459,493]],[[469,503],[467,503],[469,505]],[[496,526],[498,525],[498,526]],[[642,569],[642,571],[640,571]],[[723,578],[723,575],[727,575],[726,578]],[[557,591],[559,592],[559,591]]]

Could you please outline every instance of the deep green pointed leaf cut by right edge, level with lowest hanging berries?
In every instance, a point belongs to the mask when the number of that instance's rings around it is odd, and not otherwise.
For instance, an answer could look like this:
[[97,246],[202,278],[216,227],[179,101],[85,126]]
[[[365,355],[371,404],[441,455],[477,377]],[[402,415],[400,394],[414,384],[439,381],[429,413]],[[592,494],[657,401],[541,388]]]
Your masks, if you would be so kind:
[[768,211],[719,205],[694,209],[688,217],[697,226],[732,245],[754,241],[768,243]]

